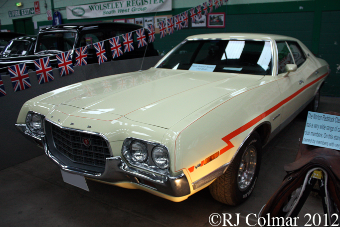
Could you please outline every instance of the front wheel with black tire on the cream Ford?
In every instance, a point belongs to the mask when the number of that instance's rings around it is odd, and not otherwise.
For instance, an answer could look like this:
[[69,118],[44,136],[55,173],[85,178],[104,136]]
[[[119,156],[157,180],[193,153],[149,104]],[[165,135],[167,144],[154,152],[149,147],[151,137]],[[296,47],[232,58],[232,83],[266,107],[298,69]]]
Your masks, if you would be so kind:
[[[239,205],[248,199],[259,175],[261,153],[261,139],[259,134],[254,132],[245,141],[225,173],[209,186],[212,197],[231,206]],[[253,161],[248,163],[249,158]],[[243,181],[241,176],[247,176],[248,180]]]

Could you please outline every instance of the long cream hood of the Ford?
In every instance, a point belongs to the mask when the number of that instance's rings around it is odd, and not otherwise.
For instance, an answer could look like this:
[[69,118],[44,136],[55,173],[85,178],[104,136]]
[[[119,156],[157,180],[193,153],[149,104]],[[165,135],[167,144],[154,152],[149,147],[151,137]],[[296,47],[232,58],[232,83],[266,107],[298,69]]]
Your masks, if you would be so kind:
[[[40,102],[124,116],[169,129],[222,96],[248,89],[262,76],[155,69],[97,78],[50,92]],[[70,110],[74,108],[70,108]],[[66,113],[74,115],[74,112]],[[108,115],[108,119],[112,115]]]

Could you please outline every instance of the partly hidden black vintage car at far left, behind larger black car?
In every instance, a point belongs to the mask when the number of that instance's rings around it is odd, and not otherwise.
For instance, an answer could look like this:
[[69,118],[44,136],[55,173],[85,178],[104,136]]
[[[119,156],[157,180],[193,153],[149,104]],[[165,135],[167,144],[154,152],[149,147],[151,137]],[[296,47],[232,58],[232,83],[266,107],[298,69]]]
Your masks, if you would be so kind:
[[[25,35],[8,41],[0,52],[1,60],[19,61],[21,56],[34,54],[36,35]],[[16,58],[19,57],[19,58]]]

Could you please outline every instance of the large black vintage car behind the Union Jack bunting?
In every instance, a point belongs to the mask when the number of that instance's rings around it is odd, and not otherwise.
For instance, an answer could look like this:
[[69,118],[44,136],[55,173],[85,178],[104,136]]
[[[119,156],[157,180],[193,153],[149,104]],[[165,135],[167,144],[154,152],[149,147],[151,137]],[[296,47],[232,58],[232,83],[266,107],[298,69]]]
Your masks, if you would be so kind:
[[[58,68],[56,54],[72,50],[72,61],[75,63],[74,50],[82,46],[87,47],[87,63],[98,63],[98,58],[93,43],[106,40],[105,51],[108,61],[113,60],[109,40],[112,37],[126,34],[142,28],[142,26],[132,23],[114,23],[114,22],[78,22],[50,26],[40,29],[36,37],[34,53],[27,56],[15,58],[0,58],[0,73],[8,74],[8,66],[18,63],[26,63],[27,70],[35,71],[34,60],[49,56],[52,68]],[[146,29],[146,37],[148,32]],[[158,51],[152,43],[148,47],[138,48],[137,34],[133,32],[134,51],[126,52],[123,55],[114,58],[114,60],[123,60],[131,58],[157,56]],[[123,38],[120,37],[121,43]],[[146,51],[147,48],[147,51]]]

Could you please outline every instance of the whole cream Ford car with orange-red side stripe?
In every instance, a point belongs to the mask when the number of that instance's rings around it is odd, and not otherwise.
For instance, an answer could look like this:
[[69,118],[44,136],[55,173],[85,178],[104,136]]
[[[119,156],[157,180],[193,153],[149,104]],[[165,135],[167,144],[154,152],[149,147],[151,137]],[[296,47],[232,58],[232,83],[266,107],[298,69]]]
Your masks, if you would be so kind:
[[194,35],[146,71],[27,101],[16,126],[83,189],[88,179],[179,202],[209,186],[237,205],[254,189],[262,147],[316,111],[328,74],[292,37]]

